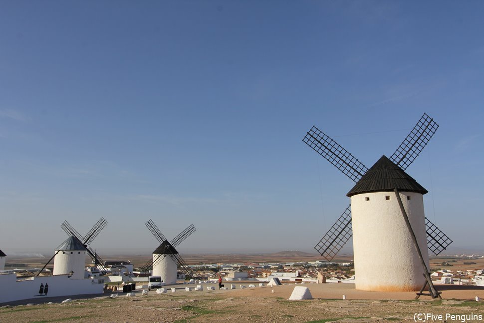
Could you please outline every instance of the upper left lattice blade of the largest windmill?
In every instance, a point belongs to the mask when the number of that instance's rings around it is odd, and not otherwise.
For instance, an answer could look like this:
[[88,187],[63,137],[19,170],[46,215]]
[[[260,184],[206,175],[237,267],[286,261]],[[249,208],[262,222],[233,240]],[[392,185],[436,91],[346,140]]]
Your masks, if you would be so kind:
[[368,171],[356,157],[315,126],[307,132],[302,141],[354,182]]

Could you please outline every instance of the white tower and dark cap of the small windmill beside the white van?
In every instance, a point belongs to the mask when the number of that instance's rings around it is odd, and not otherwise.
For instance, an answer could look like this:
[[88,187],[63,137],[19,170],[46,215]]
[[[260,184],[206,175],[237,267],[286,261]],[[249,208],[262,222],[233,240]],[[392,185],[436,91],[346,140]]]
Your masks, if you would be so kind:
[[[173,256],[178,254],[175,248],[168,241],[163,242],[153,252],[153,276],[161,276],[161,280],[166,285],[175,285],[177,283],[178,265]],[[161,260],[159,258],[162,257]]]

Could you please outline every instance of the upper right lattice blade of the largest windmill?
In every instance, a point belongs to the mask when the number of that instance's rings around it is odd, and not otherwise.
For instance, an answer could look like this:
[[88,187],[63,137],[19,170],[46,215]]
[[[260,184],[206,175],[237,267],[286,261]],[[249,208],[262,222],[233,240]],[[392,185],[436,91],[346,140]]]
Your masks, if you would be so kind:
[[439,128],[439,125],[424,113],[408,136],[395,150],[390,160],[398,167],[406,170],[425,148],[429,140]]

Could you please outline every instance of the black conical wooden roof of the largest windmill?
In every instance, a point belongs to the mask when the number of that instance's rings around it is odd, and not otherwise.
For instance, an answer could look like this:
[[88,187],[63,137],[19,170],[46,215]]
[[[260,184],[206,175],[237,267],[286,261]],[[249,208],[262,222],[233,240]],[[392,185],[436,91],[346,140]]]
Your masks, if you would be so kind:
[[428,191],[417,183],[403,169],[383,155],[365,175],[363,175],[346,196],[370,192],[388,192],[393,189],[404,192],[427,194]]

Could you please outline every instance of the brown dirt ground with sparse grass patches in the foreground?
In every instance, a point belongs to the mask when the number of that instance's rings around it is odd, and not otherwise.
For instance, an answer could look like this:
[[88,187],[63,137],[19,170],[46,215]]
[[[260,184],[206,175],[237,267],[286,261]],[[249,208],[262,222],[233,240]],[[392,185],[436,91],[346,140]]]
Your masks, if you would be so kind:
[[[212,285],[213,286],[213,285]],[[227,286],[227,285],[226,285]],[[308,287],[313,300],[287,301],[295,286]],[[481,322],[446,318],[446,315],[482,315],[484,288],[437,285],[443,300],[421,297],[415,293],[380,293],[356,291],[353,284],[287,284],[236,290],[185,292],[135,297],[119,293],[91,299],[74,299],[61,304],[8,305],[0,307],[0,322],[415,322],[417,314],[434,317],[428,322]],[[274,292],[272,292],[274,291]],[[342,300],[342,296],[346,300]],[[82,297],[82,296],[81,296]],[[44,300],[46,302],[46,300]],[[436,318],[442,315],[442,320]],[[453,320],[454,319],[454,320]]]

